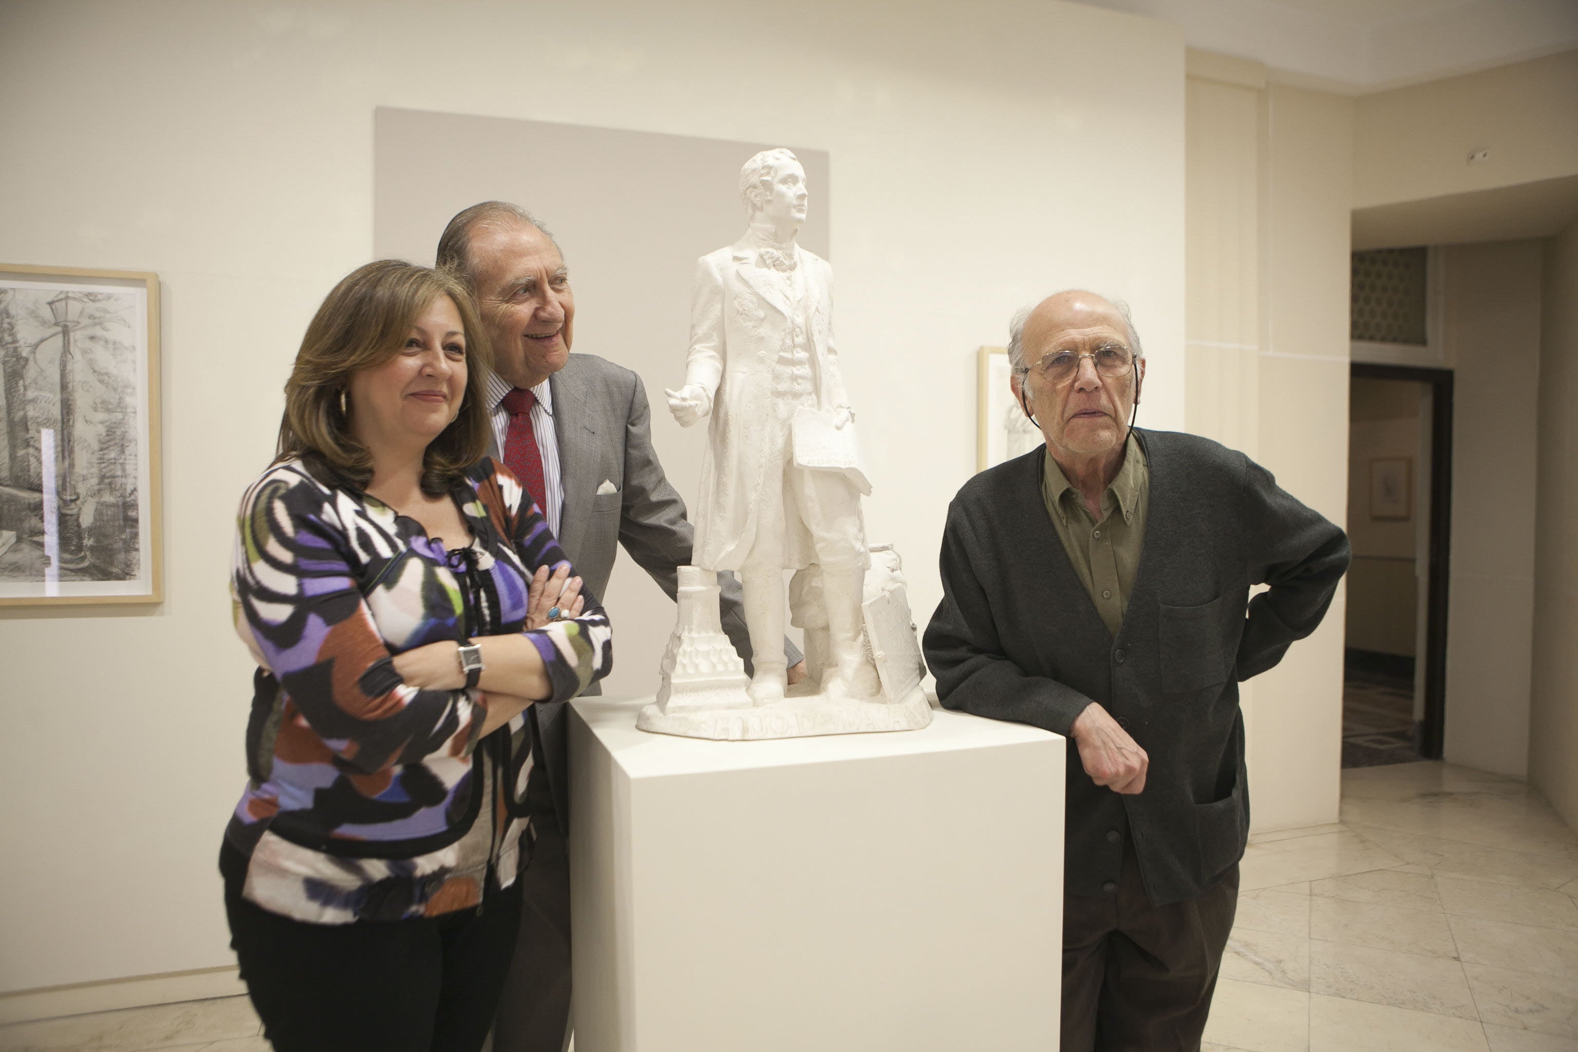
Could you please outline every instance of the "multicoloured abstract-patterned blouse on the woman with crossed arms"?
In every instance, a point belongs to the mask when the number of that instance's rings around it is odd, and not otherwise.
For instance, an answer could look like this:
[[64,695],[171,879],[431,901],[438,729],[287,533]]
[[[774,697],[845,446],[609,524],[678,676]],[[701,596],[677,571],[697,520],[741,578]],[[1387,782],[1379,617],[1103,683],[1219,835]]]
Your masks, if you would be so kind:
[[[454,550],[300,461],[241,500],[230,587],[259,667],[226,839],[249,855],[245,894],[264,908],[323,924],[434,916],[475,905],[489,872],[510,886],[524,869],[529,719],[480,741],[486,696],[409,686],[393,655],[522,631],[532,574],[568,560],[503,465],[483,459],[453,495],[472,530]],[[595,596],[525,636],[551,700],[612,666]]]

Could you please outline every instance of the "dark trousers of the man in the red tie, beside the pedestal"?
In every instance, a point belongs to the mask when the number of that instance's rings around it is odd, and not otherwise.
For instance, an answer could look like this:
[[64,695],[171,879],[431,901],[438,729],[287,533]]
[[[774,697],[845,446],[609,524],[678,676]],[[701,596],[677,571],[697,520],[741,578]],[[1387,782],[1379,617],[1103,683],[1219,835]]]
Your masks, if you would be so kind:
[[537,842],[521,874],[521,937],[499,998],[492,1052],[563,1052],[570,1039],[570,853],[543,768],[525,798]]

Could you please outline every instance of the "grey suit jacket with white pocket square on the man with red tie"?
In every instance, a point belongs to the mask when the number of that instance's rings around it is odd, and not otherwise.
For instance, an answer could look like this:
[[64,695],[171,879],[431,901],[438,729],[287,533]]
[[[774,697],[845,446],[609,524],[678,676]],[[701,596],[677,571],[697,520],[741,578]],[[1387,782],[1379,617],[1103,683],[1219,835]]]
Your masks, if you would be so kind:
[[[669,484],[652,448],[652,408],[641,377],[596,355],[570,355],[563,369],[549,377],[554,391],[554,437],[559,440],[559,475],[565,503],[559,517],[559,546],[574,563],[584,590],[600,601],[614,573],[620,544],[672,599],[679,590],[679,566],[691,563],[691,525],[685,502]],[[489,456],[503,461],[502,451]],[[598,487],[614,483],[615,492]],[[740,609],[740,584],[734,574],[718,574],[723,585],[723,631],[735,650],[751,661],[751,640]],[[619,631],[619,615],[611,612]],[[800,653],[784,644],[789,664]],[[656,669],[652,670],[653,677]],[[592,685],[587,694],[600,692]],[[533,705],[541,755],[537,762],[554,792],[560,828],[570,831],[570,779],[565,705]]]

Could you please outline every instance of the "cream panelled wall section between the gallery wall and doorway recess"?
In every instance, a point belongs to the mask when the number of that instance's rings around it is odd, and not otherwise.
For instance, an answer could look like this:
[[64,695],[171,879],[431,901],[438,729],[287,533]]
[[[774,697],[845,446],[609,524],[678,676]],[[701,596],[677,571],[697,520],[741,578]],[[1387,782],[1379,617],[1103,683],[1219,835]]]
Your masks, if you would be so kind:
[[[1188,429],[1344,522],[1352,101],[1190,52],[1187,106]],[[1243,685],[1258,831],[1337,820],[1343,595]]]

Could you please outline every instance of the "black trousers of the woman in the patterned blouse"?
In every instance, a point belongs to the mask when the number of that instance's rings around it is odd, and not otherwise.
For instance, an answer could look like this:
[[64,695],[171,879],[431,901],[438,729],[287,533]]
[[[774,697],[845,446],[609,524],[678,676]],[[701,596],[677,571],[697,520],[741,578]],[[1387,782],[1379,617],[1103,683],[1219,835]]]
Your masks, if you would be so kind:
[[275,1052],[478,1052],[521,924],[521,885],[436,918],[308,924],[241,897],[224,845],[224,910],[241,979]]

